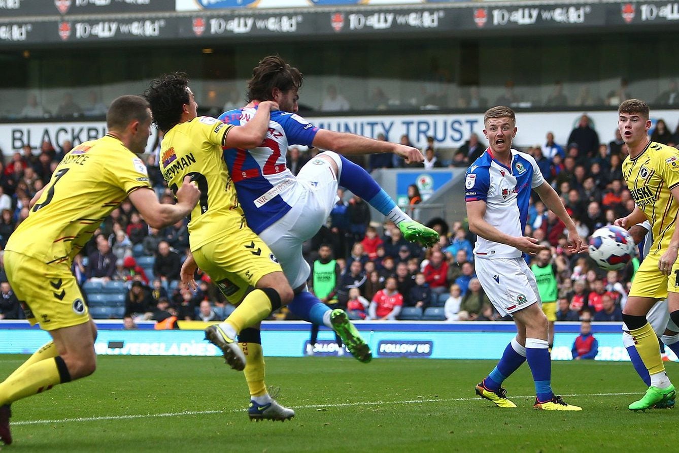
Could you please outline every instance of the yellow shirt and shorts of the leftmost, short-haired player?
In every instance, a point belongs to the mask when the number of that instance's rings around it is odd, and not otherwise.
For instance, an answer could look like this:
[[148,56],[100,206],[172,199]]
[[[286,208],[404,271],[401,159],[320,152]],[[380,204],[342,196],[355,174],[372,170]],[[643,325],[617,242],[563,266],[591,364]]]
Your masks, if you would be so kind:
[[31,324],[54,330],[90,319],[71,272],[73,257],[140,187],[151,187],[144,162],[110,135],[63,158],[5,247],[7,279]]

